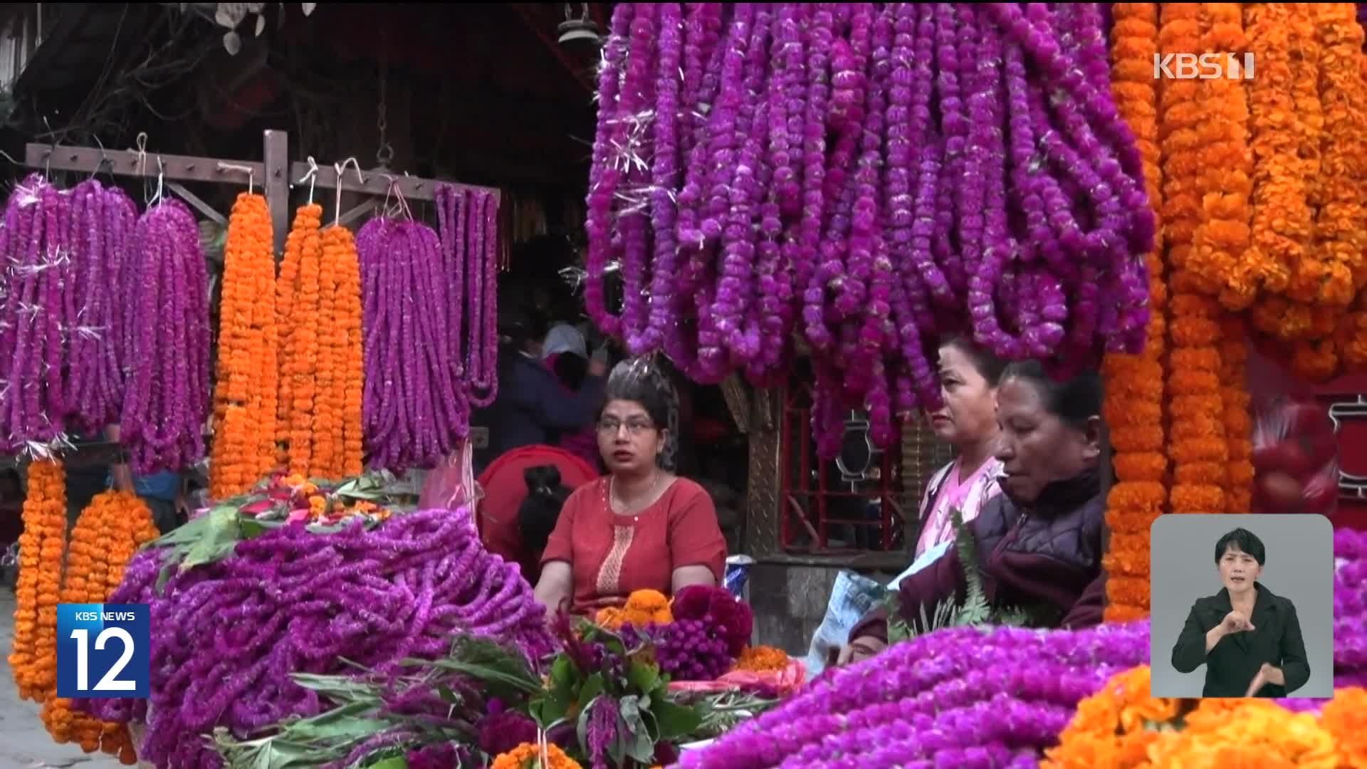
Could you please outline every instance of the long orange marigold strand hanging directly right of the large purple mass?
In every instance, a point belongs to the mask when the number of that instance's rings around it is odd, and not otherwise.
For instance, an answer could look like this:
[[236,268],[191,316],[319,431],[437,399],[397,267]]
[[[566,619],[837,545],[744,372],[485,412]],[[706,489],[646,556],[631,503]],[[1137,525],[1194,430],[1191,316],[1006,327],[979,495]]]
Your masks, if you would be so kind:
[[[1120,115],[1135,130],[1136,144],[1144,157],[1144,181],[1150,201],[1159,216],[1162,200],[1158,148],[1158,89],[1152,73],[1143,63],[1158,52],[1158,4],[1117,3],[1111,7],[1114,25],[1111,93]],[[1150,253],[1150,298],[1152,313],[1144,352],[1136,356],[1106,356],[1105,416],[1115,447],[1115,486],[1106,504],[1110,528],[1110,551],[1103,568],[1107,579],[1106,618],[1143,614],[1143,605],[1125,602],[1126,580],[1148,579],[1148,530],[1163,512],[1167,490],[1167,457],[1163,456],[1163,338],[1166,330],[1162,238]]]

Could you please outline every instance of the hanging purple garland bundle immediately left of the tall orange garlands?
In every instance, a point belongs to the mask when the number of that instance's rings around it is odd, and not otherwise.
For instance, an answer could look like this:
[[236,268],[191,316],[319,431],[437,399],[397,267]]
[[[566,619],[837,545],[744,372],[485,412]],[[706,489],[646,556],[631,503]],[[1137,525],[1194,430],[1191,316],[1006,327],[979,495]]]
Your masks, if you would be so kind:
[[123,265],[127,397],[120,441],[148,475],[204,458],[209,419],[209,276],[200,227],[178,200],[149,208]]

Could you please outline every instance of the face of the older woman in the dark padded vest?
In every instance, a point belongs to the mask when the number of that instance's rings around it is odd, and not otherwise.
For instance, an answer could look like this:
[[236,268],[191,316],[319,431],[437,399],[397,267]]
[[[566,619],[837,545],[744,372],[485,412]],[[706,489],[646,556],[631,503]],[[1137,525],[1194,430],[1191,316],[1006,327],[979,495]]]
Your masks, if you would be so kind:
[[1035,384],[1006,379],[997,387],[997,421],[1002,434],[997,458],[1006,478],[1002,491],[1017,502],[1033,502],[1046,486],[1095,467],[1100,458],[1100,420],[1079,430],[1051,413]]

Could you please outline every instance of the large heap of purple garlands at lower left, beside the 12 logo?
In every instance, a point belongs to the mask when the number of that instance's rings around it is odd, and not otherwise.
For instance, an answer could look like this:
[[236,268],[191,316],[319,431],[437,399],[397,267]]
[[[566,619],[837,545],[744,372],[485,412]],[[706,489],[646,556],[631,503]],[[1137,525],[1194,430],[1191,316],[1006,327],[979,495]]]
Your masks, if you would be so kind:
[[128,564],[109,602],[152,605],[152,698],[86,699],[105,721],[148,721],[138,755],[161,769],[217,768],[204,735],[238,739],[321,712],[290,673],[387,670],[450,651],[454,631],[489,636],[533,661],[554,650],[545,610],[513,564],[480,543],[469,510],[424,510],[366,530],[302,525],[178,572],[159,592],[161,551]]

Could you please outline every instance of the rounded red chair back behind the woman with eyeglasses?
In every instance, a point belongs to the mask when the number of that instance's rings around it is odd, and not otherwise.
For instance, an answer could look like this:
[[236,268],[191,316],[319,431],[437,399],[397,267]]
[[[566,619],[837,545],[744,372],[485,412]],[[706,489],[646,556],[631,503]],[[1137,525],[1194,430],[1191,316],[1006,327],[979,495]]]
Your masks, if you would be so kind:
[[522,576],[533,586],[541,576],[540,553],[524,551],[522,535],[517,530],[517,512],[522,499],[526,499],[522,472],[540,465],[555,465],[560,471],[560,483],[570,488],[578,488],[599,476],[596,468],[563,449],[522,446],[489,462],[476,479],[484,490],[476,519],[480,539],[489,553],[521,565]]

